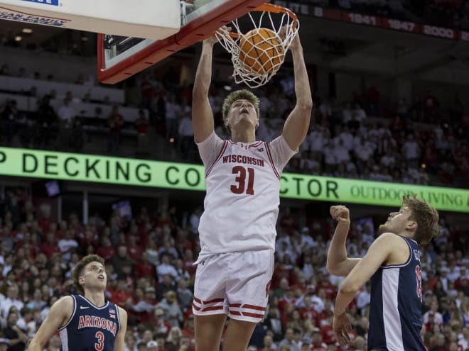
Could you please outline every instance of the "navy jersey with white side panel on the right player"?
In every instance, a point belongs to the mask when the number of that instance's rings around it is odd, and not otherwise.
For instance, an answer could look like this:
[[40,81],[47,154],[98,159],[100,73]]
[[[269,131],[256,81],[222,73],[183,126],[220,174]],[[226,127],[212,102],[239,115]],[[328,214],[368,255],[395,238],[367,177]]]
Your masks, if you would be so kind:
[[379,267],[371,278],[368,350],[426,350],[420,335],[420,251],[415,240],[401,238],[409,245],[409,260]]

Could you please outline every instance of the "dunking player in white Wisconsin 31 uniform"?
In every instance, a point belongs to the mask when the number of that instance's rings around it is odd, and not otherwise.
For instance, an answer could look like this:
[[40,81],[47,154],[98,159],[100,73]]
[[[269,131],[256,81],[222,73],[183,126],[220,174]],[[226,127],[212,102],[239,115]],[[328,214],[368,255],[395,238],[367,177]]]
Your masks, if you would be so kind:
[[214,132],[208,101],[212,47],[207,38],[195,75],[193,128],[205,165],[205,212],[200,218],[201,252],[195,276],[193,313],[198,351],[245,351],[254,326],[264,318],[274,268],[280,174],[308,132],[312,99],[298,35],[293,55],[296,106],[281,135],[271,143],[256,141],[259,99],[233,91],[222,106],[231,140]]

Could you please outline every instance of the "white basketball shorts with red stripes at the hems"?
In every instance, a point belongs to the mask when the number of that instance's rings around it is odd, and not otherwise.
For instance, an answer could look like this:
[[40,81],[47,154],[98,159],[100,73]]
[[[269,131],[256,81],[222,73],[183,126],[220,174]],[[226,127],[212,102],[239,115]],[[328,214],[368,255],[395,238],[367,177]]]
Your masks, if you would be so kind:
[[227,252],[198,262],[193,313],[227,314],[240,321],[264,319],[274,272],[272,250]]

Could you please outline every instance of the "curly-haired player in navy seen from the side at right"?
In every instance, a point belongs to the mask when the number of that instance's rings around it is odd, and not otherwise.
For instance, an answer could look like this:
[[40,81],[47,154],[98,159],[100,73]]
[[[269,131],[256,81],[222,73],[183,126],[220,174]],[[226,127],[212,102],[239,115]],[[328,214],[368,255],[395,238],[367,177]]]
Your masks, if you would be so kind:
[[338,341],[350,341],[345,308],[360,286],[371,278],[368,350],[421,350],[421,264],[419,244],[438,236],[438,212],[424,200],[404,196],[399,212],[379,225],[365,257],[348,258],[345,248],[350,226],[349,210],[332,206],[338,221],[328,251],[328,271],[346,277],[335,301],[333,329]]

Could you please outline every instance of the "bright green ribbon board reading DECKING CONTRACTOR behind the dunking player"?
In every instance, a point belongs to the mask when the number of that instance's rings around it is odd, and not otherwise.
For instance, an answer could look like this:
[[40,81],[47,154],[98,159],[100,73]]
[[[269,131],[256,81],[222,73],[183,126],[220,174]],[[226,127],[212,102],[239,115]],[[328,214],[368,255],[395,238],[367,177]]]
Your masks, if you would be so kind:
[[[202,165],[11,147],[0,147],[0,175],[205,191]],[[290,199],[400,206],[406,194],[417,194],[441,211],[469,213],[466,189],[281,175],[280,196]]]

